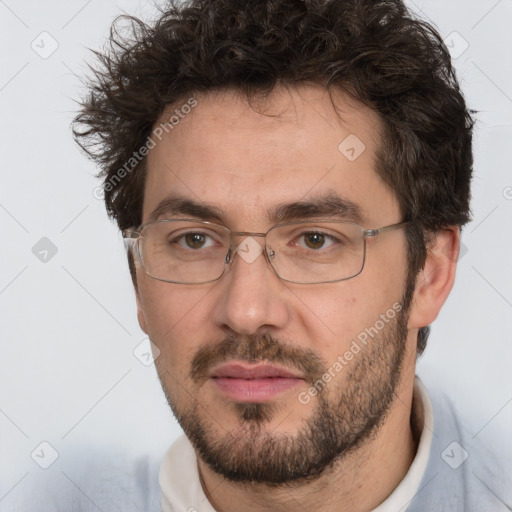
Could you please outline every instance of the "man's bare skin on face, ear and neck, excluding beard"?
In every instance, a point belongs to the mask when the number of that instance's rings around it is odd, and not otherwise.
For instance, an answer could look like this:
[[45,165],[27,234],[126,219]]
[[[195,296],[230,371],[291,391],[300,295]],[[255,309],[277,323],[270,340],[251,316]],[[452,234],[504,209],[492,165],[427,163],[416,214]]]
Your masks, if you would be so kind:
[[[143,222],[160,201],[177,193],[221,209],[223,224],[233,231],[266,232],[272,227],[268,209],[333,191],[359,205],[365,228],[402,220],[393,192],[374,171],[379,118],[348,95],[333,93],[337,111],[329,94],[314,85],[276,88],[256,102],[256,111],[234,91],[197,100],[148,155]],[[349,134],[366,146],[352,162],[338,150]],[[451,290],[458,248],[455,227],[437,233],[418,275],[401,379],[380,428],[320,478],[287,486],[232,482],[199,458],[203,489],[217,511],[296,511],[297,502],[301,510],[367,511],[393,491],[416,451],[410,419],[418,329],[436,318]],[[270,334],[331,365],[358,333],[400,300],[406,276],[403,229],[369,240],[363,272],[334,284],[284,282],[263,257],[247,263],[236,256],[220,280],[192,286],[157,281],[137,266],[138,319],[160,350],[157,370],[170,401],[186,410],[193,398],[198,419],[215,439],[240,434],[244,425],[213,385],[198,387],[191,379],[198,350],[228,336]],[[329,383],[330,392],[343,392],[348,374],[340,372]],[[316,404],[297,399],[308,387],[304,382],[279,395],[265,423],[268,431],[298,432]]]

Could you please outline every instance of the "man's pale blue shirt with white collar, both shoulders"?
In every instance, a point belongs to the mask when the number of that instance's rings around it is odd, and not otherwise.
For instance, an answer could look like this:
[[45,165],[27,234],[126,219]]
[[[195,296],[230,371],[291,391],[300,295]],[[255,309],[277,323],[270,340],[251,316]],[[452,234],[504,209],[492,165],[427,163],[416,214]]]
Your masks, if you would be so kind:
[[[415,389],[415,399],[416,394]],[[510,465],[505,471],[496,455],[465,433],[446,397],[430,393],[429,398],[426,390],[421,395],[425,417],[416,457],[399,486],[374,512],[511,511]],[[11,493],[0,502],[0,511],[188,512],[195,503],[198,512],[211,512],[199,482],[195,453],[186,438],[178,439],[176,447],[180,443],[181,451],[171,460],[171,478],[165,479],[167,455],[160,469],[160,461],[150,457],[134,461],[119,453],[84,450],[72,455],[75,463],[72,469],[66,467],[66,474],[56,468],[39,472],[38,480],[29,481],[29,475],[24,485],[32,492]],[[165,479],[162,488],[159,472]],[[168,499],[162,499],[162,491]]]

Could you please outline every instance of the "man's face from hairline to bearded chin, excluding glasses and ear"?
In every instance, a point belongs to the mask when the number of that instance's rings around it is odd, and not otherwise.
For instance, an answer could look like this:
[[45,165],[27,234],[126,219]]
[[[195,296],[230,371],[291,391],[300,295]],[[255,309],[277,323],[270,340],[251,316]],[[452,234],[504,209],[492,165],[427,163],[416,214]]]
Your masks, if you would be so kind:
[[[321,210],[334,196],[359,208],[364,228],[400,222],[374,171],[377,115],[340,92],[333,98],[338,112],[313,86],[278,88],[254,109],[232,91],[196,98],[148,156],[143,221],[172,195],[215,208],[232,231],[268,231],[277,208],[309,220],[293,205]],[[354,135],[365,145],[359,155]],[[160,218],[180,217],[191,213]],[[203,460],[233,480],[278,483],[321,474],[368,439],[392,405],[403,358],[413,360],[407,311],[396,307],[406,278],[403,230],[369,239],[362,273],[330,284],[280,280],[262,254],[237,254],[208,284],[165,283],[139,267],[139,321]]]

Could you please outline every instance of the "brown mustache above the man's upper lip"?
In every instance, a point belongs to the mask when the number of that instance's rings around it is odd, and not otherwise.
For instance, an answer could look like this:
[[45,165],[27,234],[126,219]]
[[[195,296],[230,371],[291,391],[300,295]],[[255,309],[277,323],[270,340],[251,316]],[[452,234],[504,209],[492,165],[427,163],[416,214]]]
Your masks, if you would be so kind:
[[190,377],[196,384],[204,384],[211,368],[233,360],[250,364],[278,363],[298,369],[311,384],[322,378],[327,368],[325,361],[312,350],[291,346],[270,334],[229,336],[216,345],[197,351],[192,359]]

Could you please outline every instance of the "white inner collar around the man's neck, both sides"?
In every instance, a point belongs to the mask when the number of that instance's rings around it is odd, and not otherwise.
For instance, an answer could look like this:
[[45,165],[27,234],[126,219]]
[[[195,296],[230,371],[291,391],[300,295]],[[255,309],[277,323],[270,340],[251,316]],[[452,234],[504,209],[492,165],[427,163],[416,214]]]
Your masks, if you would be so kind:
[[[434,429],[434,412],[427,390],[418,377],[414,382],[414,404],[423,406],[423,422],[416,456],[396,489],[372,512],[405,512],[418,492],[427,468]],[[418,407],[421,411],[421,407]],[[421,423],[421,422],[420,422]],[[197,459],[190,441],[181,436],[169,448],[160,467],[162,512],[215,512],[199,480]]]

